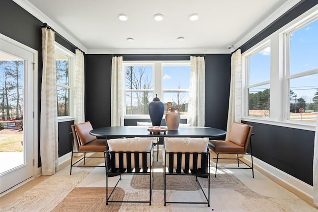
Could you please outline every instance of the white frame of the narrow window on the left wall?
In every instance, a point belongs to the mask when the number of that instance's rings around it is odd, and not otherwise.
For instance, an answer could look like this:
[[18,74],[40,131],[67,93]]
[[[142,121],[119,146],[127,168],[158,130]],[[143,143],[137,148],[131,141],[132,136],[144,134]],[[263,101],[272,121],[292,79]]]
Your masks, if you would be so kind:
[[72,121],[74,120],[74,69],[75,69],[75,54],[62,46],[61,44],[55,42],[55,51],[60,52],[61,54],[66,55],[69,57],[69,85],[64,85],[64,84],[56,84],[57,86],[60,87],[66,87],[70,88],[70,100],[69,100],[69,110],[70,110],[70,115],[69,116],[58,116],[58,122],[66,122],[66,121]]

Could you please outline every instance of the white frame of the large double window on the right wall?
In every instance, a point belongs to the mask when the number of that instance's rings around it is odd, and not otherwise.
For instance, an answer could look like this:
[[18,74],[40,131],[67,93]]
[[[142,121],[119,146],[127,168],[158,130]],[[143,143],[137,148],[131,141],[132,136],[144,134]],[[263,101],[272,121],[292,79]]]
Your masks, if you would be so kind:
[[[288,48],[286,47],[286,34],[290,33],[293,30],[297,30],[307,25],[311,21],[318,19],[318,5],[309,9],[299,17],[295,18],[285,26],[281,27],[277,31],[270,34],[268,37],[264,38],[259,43],[255,44],[253,47],[249,48],[247,51],[243,52],[242,57],[242,96],[241,96],[241,120],[242,121],[251,121],[255,123],[261,124],[269,124],[275,126],[303,129],[303,130],[316,130],[316,122],[304,122],[302,121],[290,121],[288,120],[288,112],[289,112],[289,84],[287,83],[287,75],[286,69],[289,68],[289,61],[286,60],[286,54]],[[270,101],[274,102],[275,105],[270,105],[270,117],[269,119],[263,119],[262,117],[248,117],[247,109],[248,109],[248,101],[247,101],[247,88],[246,88],[246,80],[247,74],[246,71],[246,56],[251,52],[255,51],[255,49],[262,45],[267,40],[270,40],[271,46],[271,56],[270,56]],[[287,64],[288,63],[288,64]],[[304,75],[311,74],[311,71],[303,72]],[[316,69],[314,70],[316,71]],[[297,75],[293,75],[297,76]],[[287,101],[288,100],[288,101]]]

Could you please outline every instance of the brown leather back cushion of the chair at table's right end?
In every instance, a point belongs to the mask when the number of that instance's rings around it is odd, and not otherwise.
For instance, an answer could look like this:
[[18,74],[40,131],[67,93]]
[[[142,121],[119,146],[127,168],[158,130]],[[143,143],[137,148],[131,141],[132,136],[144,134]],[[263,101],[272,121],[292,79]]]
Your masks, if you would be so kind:
[[233,122],[229,141],[236,143],[245,148],[245,151],[248,147],[249,139],[252,133],[253,127],[239,122]]

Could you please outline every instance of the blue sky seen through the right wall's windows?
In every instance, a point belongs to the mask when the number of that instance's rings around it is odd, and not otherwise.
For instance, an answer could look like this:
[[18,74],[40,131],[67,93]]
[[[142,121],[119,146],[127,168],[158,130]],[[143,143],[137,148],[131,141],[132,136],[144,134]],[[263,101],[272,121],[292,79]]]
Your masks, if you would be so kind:
[[[250,57],[249,69],[250,84],[269,80],[269,47]],[[290,35],[290,74],[315,69],[318,69],[318,20],[294,31]],[[303,97],[307,103],[311,103],[318,89],[318,74],[291,79],[290,86],[291,90],[297,94],[297,98]],[[261,87],[265,89],[269,86]]]

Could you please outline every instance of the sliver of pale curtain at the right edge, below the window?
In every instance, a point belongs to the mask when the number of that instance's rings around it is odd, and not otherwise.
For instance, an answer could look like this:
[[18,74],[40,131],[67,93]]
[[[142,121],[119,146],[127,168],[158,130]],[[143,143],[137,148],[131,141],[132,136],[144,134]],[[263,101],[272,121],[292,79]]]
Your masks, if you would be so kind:
[[314,143],[314,167],[313,167],[313,184],[314,184],[314,203],[318,206],[318,120],[316,122],[316,133]]

